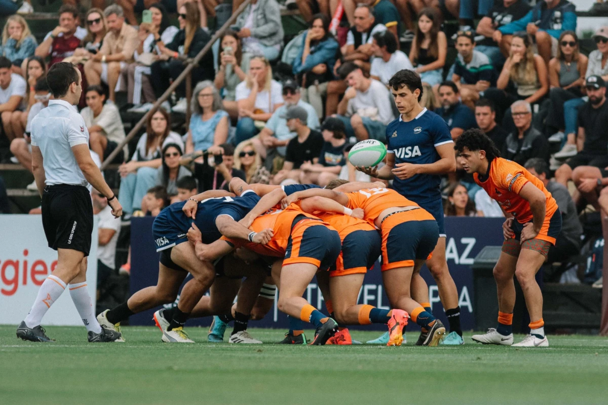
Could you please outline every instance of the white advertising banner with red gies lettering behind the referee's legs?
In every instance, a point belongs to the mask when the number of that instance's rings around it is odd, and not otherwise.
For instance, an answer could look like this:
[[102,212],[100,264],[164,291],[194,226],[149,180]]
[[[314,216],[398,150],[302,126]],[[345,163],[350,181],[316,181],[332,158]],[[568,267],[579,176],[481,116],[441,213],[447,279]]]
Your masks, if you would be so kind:
[[[97,223],[95,218],[86,272],[93,306],[97,289]],[[0,215],[0,229],[0,324],[18,325],[46,277],[57,267],[57,252],[46,241],[40,215]],[[50,307],[43,325],[82,325],[68,291]]]

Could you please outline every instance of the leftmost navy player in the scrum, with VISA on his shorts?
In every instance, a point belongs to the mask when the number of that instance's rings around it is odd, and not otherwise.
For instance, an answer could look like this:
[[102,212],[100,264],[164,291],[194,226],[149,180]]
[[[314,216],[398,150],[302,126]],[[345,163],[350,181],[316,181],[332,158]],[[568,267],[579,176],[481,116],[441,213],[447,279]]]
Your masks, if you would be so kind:
[[[157,285],[144,288],[127,302],[101,313],[97,317],[100,324],[117,330],[120,321],[133,314],[174,302],[179,286],[190,273],[193,278],[182,288],[178,306],[171,310],[171,316],[165,317],[165,311],[159,310],[154,313],[154,321],[163,331],[164,342],[192,342],[184,332],[183,325],[196,303],[212,285],[216,269],[209,261],[196,257],[195,249],[186,236],[191,224],[195,223],[204,230],[202,240],[206,243],[212,243],[224,235],[266,244],[272,238],[272,230],[265,229],[256,234],[247,227],[258,215],[279,201],[273,195],[260,199],[252,190],[244,191],[240,197],[224,190],[211,190],[162,210],[152,226],[156,251],[160,253]],[[260,204],[257,206],[258,202]],[[250,309],[244,312],[249,313]]]

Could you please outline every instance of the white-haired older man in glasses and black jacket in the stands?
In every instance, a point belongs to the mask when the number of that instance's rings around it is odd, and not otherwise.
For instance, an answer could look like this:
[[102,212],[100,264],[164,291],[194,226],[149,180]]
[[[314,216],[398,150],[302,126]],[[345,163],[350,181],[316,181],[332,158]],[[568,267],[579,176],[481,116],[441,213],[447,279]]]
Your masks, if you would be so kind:
[[502,147],[502,157],[522,166],[533,157],[540,157],[548,162],[549,144],[547,138],[532,126],[530,103],[517,100],[511,105],[511,112],[517,131],[506,137]]

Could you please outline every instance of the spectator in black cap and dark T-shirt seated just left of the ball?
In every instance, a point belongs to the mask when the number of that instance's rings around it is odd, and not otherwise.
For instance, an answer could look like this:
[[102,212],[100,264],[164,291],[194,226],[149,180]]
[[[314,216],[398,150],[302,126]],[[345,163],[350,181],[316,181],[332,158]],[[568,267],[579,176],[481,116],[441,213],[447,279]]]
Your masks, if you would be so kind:
[[328,117],[321,126],[321,134],[325,142],[323,142],[319,155],[319,162],[317,164],[304,162],[300,166],[300,170],[302,170],[300,183],[302,184],[317,184],[325,187],[330,181],[338,178],[342,166],[346,164],[344,122],[336,117]]

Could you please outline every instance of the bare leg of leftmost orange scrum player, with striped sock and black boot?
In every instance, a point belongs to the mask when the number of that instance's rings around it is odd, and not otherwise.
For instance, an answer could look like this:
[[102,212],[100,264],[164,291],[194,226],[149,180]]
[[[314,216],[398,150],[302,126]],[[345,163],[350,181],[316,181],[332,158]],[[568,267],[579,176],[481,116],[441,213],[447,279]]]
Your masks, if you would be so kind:
[[283,266],[280,274],[278,309],[289,316],[310,322],[317,327],[317,337],[313,344],[323,345],[337,331],[337,323],[302,298],[308,283],[317,272],[317,266],[310,263],[294,263]]

